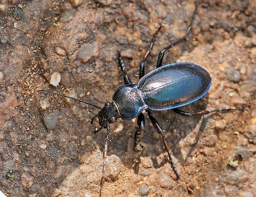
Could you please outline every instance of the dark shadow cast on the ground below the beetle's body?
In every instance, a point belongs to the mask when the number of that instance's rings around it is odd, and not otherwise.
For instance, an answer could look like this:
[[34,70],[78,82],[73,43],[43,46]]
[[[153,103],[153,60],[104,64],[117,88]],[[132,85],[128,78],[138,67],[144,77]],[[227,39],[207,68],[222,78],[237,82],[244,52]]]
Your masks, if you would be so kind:
[[[201,98],[190,105],[184,106],[181,109],[191,113],[196,113],[206,110],[207,103],[208,99],[206,94],[204,98]],[[208,120],[214,115],[207,115],[207,117],[184,117],[174,113],[172,110],[152,111],[152,114],[164,130],[168,145],[172,150],[171,154],[182,166],[197,148],[198,141]],[[167,156],[164,157],[164,159],[160,159],[161,163],[159,163],[159,156],[162,153],[166,153],[166,150],[164,150],[164,143],[161,136],[150,122],[147,113],[144,115],[145,130],[141,132],[140,142],[145,143],[145,147],[143,147],[141,151],[134,150],[134,134],[136,131],[135,126],[137,125],[136,121],[133,123],[131,121],[120,120],[119,124],[117,121],[116,124],[111,124],[110,128],[111,143],[109,143],[107,155],[116,154],[121,159],[122,163],[126,167],[133,169],[135,173],[139,173],[141,157],[150,157],[153,162],[153,166],[156,169],[164,166],[166,163],[169,163]],[[122,129],[116,133],[115,131],[120,125],[122,125]],[[196,127],[198,127],[198,129],[196,129]],[[194,143],[190,143],[190,147],[188,148],[186,146],[185,150],[183,150],[184,147],[180,145],[180,141],[183,139],[189,139],[191,132],[194,132],[194,134],[192,134]],[[97,138],[99,138],[100,147],[102,147],[103,151],[105,141],[102,141],[102,135],[97,135]],[[186,155],[184,155],[184,152]]]

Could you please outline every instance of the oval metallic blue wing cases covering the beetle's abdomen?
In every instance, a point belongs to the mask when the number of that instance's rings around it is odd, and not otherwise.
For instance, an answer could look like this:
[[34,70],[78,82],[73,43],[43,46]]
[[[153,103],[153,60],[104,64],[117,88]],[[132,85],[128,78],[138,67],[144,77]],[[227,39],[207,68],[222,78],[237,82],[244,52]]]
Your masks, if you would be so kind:
[[211,86],[209,73],[192,63],[170,63],[138,82],[144,103],[152,110],[168,110],[200,99]]

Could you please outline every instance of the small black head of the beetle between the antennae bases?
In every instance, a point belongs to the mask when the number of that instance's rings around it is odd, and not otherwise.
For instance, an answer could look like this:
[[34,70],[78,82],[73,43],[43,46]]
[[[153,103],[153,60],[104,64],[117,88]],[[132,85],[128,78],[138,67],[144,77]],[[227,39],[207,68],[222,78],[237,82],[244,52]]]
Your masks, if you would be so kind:
[[120,115],[116,109],[114,102],[112,103],[105,103],[104,108],[99,111],[98,119],[100,126],[104,126],[106,122],[114,123],[116,119],[120,118]]

